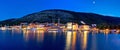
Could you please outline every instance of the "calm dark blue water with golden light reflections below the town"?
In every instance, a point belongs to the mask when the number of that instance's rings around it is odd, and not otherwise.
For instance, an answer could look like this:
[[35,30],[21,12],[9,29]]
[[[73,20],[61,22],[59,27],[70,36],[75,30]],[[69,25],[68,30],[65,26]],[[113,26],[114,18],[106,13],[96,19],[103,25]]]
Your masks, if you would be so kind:
[[120,34],[0,31],[0,50],[120,50]]

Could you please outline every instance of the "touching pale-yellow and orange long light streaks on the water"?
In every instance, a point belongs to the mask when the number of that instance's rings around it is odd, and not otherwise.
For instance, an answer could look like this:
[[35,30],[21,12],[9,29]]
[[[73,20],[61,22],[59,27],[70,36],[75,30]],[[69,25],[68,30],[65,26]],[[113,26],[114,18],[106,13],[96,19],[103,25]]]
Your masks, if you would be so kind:
[[66,32],[66,47],[65,50],[75,50],[76,49],[76,31]]

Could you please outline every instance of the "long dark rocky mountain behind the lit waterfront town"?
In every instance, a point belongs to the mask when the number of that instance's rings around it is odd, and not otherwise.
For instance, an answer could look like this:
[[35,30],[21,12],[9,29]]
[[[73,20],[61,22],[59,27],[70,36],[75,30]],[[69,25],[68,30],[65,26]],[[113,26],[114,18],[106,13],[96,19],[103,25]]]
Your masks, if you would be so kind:
[[4,20],[0,22],[0,25],[17,25],[22,22],[51,23],[53,21],[57,22],[58,19],[60,19],[61,23],[75,22],[81,24],[80,21],[84,21],[86,24],[102,24],[102,23],[120,24],[119,17],[103,16],[94,13],[83,13],[68,10],[51,9],[28,14],[18,19]]

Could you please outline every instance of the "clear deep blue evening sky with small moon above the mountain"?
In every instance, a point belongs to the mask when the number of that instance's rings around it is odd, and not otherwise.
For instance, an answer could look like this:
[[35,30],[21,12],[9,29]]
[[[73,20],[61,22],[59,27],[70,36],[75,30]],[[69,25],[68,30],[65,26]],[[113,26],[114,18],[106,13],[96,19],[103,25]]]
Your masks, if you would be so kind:
[[120,17],[120,0],[0,0],[0,21],[47,9]]

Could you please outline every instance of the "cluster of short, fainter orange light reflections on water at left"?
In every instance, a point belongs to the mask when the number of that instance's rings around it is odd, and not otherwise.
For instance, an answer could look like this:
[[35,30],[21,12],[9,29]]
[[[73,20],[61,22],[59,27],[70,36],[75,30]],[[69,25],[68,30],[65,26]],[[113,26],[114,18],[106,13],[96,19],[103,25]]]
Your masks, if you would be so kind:
[[44,38],[44,30],[23,30],[23,37],[25,41],[36,39],[38,42],[42,42]]

